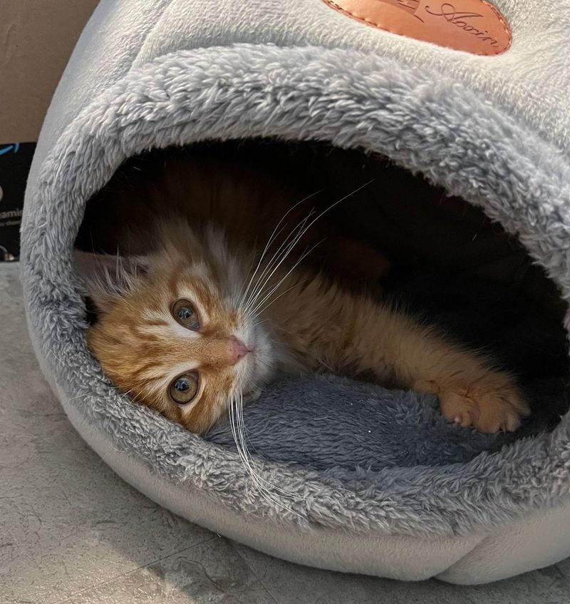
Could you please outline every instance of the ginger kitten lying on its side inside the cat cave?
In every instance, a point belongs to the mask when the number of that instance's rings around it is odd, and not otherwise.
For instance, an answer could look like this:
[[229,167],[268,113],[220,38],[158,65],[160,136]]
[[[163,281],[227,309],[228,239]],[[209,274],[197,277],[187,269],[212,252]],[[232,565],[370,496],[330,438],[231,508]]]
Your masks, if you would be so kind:
[[99,315],[88,346],[120,391],[204,433],[278,374],[372,373],[437,394],[461,426],[517,429],[529,408],[508,373],[308,265],[310,221],[281,236],[279,224],[244,244],[181,214],[145,255],[78,252]]

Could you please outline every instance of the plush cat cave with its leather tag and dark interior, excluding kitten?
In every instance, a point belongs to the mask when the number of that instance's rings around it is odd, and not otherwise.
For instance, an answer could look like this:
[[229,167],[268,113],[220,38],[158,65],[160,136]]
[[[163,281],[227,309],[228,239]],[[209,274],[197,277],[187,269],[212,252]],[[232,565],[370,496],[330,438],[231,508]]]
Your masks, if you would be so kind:
[[[100,3],[38,142],[21,260],[43,372],[126,481],[321,568],[484,583],[570,555],[570,7],[493,4]],[[268,496],[227,424],[202,438],[132,404],[86,349],[73,246],[121,170],[180,147],[285,154],[338,195],[371,182],[336,227],[388,255],[390,295],[497,352],[532,416],[480,434],[430,396],[281,380],[244,414]]]

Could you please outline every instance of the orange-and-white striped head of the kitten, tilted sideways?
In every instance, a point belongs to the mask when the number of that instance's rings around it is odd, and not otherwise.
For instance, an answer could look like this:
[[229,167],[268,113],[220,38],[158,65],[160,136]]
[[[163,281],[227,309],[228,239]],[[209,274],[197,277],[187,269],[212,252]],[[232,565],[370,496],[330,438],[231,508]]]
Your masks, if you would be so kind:
[[269,378],[274,345],[241,303],[249,262],[220,232],[157,229],[145,257],[77,252],[98,321],[88,345],[116,387],[202,433]]

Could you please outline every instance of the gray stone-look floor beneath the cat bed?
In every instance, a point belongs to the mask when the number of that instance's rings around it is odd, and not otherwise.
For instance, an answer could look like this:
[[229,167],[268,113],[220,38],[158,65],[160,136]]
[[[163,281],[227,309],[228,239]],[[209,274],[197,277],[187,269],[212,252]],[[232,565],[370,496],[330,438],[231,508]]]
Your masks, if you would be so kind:
[[26,337],[0,264],[0,603],[570,603],[570,560],[482,587],[398,583],[270,558],[160,508],[90,451]]

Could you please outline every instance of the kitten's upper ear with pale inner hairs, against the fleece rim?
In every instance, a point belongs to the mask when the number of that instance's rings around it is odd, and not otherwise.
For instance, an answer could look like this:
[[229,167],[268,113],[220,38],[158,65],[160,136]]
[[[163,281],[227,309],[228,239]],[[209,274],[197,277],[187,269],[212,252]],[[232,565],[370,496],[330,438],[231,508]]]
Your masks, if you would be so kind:
[[135,289],[148,272],[145,256],[113,256],[74,250],[76,270],[86,293],[99,312],[108,312],[121,297]]

